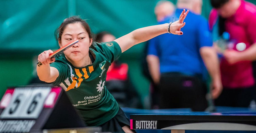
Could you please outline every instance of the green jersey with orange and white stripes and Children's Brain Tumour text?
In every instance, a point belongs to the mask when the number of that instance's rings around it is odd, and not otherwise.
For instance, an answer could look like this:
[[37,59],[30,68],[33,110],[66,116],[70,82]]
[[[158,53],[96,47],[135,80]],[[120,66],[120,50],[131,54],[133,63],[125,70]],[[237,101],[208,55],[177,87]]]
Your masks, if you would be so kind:
[[66,91],[88,126],[99,126],[113,118],[119,109],[118,103],[106,89],[105,80],[109,66],[122,51],[115,41],[93,42],[93,46],[94,49],[89,49],[96,57],[93,64],[75,68],[61,54],[50,66],[59,71],[53,84]]

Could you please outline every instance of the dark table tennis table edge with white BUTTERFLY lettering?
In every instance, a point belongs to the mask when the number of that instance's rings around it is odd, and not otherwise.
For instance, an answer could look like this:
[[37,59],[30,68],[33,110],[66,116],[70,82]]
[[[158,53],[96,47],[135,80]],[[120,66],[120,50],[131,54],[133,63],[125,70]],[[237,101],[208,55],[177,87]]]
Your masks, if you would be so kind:
[[133,114],[131,129],[256,131],[256,113]]

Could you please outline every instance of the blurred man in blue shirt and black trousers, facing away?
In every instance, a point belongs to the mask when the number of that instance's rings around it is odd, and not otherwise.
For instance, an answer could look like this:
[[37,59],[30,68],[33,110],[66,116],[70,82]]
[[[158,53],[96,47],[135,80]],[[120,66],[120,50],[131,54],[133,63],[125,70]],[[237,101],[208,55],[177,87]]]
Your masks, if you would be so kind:
[[159,84],[160,108],[191,108],[204,111],[206,84],[204,64],[212,77],[212,97],[222,91],[219,64],[212,48],[208,22],[200,16],[202,0],[178,0],[173,15],[159,24],[179,19],[183,8],[190,10],[184,35],[163,34],[150,40],[147,62],[153,81]]

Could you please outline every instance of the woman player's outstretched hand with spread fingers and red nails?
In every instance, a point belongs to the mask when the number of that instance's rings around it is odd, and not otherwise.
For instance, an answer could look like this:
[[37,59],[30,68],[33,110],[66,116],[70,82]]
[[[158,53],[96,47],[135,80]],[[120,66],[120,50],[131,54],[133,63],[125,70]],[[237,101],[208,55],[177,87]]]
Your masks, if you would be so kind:
[[184,19],[186,18],[187,14],[188,14],[188,10],[187,12],[185,12],[185,9],[183,9],[183,12],[180,15],[179,20],[173,22],[170,25],[170,32],[174,35],[183,35],[183,32],[181,31],[181,28],[186,24],[184,21]]

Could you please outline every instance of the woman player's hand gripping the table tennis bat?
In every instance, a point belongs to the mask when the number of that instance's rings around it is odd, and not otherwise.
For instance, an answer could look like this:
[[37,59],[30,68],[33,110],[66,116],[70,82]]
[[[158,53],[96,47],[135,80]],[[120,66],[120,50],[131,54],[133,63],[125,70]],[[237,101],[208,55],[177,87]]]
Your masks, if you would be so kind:
[[47,50],[42,52],[40,55],[38,55],[38,61],[44,65],[54,62],[55,58],[49,58],[49,55],[52,53],[53,53],[52,50]]

